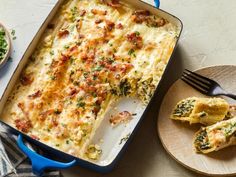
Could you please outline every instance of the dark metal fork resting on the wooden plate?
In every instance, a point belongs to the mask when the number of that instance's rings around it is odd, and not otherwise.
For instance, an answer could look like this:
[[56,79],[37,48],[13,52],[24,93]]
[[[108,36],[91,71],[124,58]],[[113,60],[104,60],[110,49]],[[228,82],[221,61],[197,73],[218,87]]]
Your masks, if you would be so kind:
[[236,100],[235,94],[228,93],[227,91],[225,91],[216,81],[204,77],[200,74],[194,73],[192,71],[189,71],[188,69],[184,70],[181,79],[205,95],[224,95]]

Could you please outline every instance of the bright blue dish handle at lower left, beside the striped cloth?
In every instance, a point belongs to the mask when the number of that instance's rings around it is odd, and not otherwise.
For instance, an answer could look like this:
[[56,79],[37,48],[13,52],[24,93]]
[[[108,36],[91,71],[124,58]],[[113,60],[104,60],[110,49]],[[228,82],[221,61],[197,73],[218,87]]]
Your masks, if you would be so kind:
[[37,154],[35,151],[29,149],[23,142],[22,135],[19,134],[17,138],[18,147],[29,157],[32,163],[32,171],[35,175],[41,176],[43,174],[44,169],[46,168],[69,168],[76,164],[76,160],[73,160],[69,163],[57,162],[54,160],[50,160],[46,157],[43,157]]

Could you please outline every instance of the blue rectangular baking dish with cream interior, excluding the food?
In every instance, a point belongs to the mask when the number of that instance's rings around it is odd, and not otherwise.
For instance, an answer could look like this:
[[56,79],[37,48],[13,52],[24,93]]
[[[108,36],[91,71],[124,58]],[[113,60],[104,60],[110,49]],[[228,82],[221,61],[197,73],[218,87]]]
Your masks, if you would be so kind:
[[[18,64],[17,69],[15,70],[14,75],[12,76],[12,78],[11,78],[2,98],[1,98],[0,115],[4,110],[4,105],[6,104],[8,96],[10,95],[14,85],[16,84],[17,80],[19,79],[23,68],[25,67],[25,65],[28,62],[28,59],[30,58],[31,54],[33,53],[34,49],[36,48],[36,46],[40,40],[40,37],[42,36],[43,32],[45,31],[46,27],[51,22],[53,17],[57,14],[58,9],[63,4],[63,2],[64,2],[63,0],[58,1],[56,6],[53,8],[52,12],[49,14],[48,18],[45,20],[45,22],[41,26],[39,32],[37,33],[37,35],[35,36],[35,38],[31,42],[31,44],[28,47],[27,51],[25,52],[22,60]],[[182,31],[182,23],[178,18],[174,17],[173,15],[168,14],[165,11],[157,9],[149,4],[146,4],[142,1],[124,0],[124,2],[132,5],[133,7],[135,7],[135,9],[148,10],[152,14],[161,16],[164,19],[167,19],[170,23],[177,26],[177,28],[178,28],[178,34],[177,34],[178,37],[176,40],[176,43],[177,43],[178,38],[179,38],[181,31]],[[176,43],[174,45],[174,48],[176,47]],[[165,72],[168,68],[169,63],[170,63],[170,59],[166,65],[166,68],[165,68],[165,71],[161,77],[161,80],[164,78],[164,75],[165,75]],[[158,83],[158,85],[161,83],[161,80]],[[154,95],[157,95],[158,85],[156,87],[156,91],[155,91]],[[64,152],[59,151],[53,147],[45,145],[45,144],[41,143],[40,141],[37,141],[37,140],[31,138],[30,136],[28,136],[26,134],[22,134],[22,132],[19,132],[17,129],[15,129],[14,127],[10,126],[9,124],[7,124],[5,122],[3,122],[3,123],[9,128],[10,131],[12,131],[15,134],[19,134],[18,145],[29,156],[29,158],[31,159],[32,164],[33,164],[33,166],[32,166],[33,171],[38,175],[42,174],[42,172],[45,168],[67,168],[67,167],[75,165],[75,164],[79,164],[81,166],[85,166],[85,167],[94,169],[96,171],[105,172],[105,171],[111,170],[112,167],[114,166],[114,164],[117,161],[118,157],[120,156],[122,150],[125,149],[124,147],[127,146],[127,144],[128,144],[128,141],[126,141],[126,140],[130,139],[129,137],[133,135],[133,133],[134,133],[135,129],[137,128],[138,124],[140,123],[141,119],[144,117],[145,111],[150,106],[150,103],[151,103],[151,101],[149,101],[149,104],[146,107],[143,107],[138,100],[135,100],[132,98],[125,98],[125,99],[120,100],[115,105],[115,107],[117,107],[119,110],[126,110],[127,109],[130,112],[136,113],[137,115],[127,125],[120,125],[120,126],[116,127],[115,129],[109,125],[109,121],[108,121],[113,110],[112,109],[108,110],[108,112],[105,114],[105,118],[102,119],[100,126],[96,130],[95,136],[92,138],[92,142],[94,142],[94,144],[99,144],[100,140],[101,139],[103,140],[103,143],[100,143],[100,146],[103,150],[103,154],[98,161],[84,160],[84,159],[72,156],[70,154],[64,153]],[[53,154],[56,157],[60,157],[61,160],[71,161],[71,162],[69,162],[69,163],[56,162],[56,161],[49,160],[47,158],[44,158],[44,157],[36,154],[35,152],[31,151],[23,144],[22,136],[25,137],[28,141],[38,145],[39,147],[41,147],[44,150],[50,152],[50,154]],[[38,163],[39,161],[41,162],[40,164]],[[42,163],[42,162],[44,162],[44,163]]]

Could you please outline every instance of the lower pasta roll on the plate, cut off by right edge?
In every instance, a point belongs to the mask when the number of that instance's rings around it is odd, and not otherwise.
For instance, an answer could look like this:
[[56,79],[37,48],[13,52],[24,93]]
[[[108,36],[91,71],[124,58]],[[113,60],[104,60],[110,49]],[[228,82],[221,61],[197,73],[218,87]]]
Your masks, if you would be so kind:
[[202,127],[194,137],[194,149],[209,153],[236,144],[236,117]]

